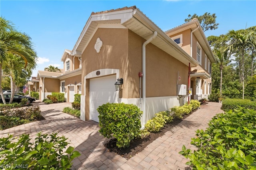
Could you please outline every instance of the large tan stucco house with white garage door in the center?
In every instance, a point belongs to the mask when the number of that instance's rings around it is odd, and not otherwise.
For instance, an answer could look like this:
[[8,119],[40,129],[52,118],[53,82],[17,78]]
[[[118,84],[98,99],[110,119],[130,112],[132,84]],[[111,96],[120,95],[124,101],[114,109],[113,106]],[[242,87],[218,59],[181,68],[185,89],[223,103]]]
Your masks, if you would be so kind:
[[[180,35],[182,43],[175,40]],[[133,103],[143,111],[142,125],[159,111],[183,105],[188,88],[193,99],[207,97],[208,63],[215,62],[198,20],[163,32],[136,6],[92,12],[70,55],[82,59],[82,120],[98,122],[96,109],[104,103]],[[116,91],[120,78],[122,89]]]

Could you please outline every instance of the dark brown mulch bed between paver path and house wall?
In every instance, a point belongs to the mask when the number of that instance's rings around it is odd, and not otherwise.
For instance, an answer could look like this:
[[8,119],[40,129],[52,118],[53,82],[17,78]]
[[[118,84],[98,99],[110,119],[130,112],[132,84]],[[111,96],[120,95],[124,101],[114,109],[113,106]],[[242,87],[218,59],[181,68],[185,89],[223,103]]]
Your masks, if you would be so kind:
[[[203,103],[205,105],[207,103]],[[166,132],[170,131],[173,127],[178,125],[182,120],[186,119],[190,115],[192,115],[194,111],[192,111],[188,115],[184,115],[182,119],[174,119],[172,123],[167,123],[159,132],[153,133],[151,132],[147,137],[141,139],[134,139],[130,142],[129,148],[118,148],[116,146],[116,142],[113,140],[109,140],[104,146],[108,148],[108,152],[114,152],[119,154],[120,156],[130,159],[132,156],[136,155],[137,153],[141,152],[148,144],[152,143],[156,138],[163,136]]]

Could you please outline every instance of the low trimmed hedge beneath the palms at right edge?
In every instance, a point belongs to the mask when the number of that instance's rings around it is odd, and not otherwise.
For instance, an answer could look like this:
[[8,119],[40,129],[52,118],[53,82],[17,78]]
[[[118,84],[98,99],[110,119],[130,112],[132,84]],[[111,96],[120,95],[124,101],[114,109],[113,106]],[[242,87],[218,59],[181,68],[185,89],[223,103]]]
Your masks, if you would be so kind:
[[256,110],[256,101],[249,99],[224,99],[222,101],[222,110],[224,111],[237,109],[237,106]]

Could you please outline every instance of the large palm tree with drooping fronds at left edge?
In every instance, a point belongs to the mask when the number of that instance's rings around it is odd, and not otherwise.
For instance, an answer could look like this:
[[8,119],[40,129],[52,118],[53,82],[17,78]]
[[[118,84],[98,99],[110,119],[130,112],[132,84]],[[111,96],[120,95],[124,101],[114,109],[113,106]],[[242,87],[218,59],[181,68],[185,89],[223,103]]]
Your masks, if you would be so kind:
[[[24,68],[27,67],[28,63],[33,63],[37,59],[30,37],[17,32],[12,25],[10,21],[0,17],[0,85],[2,80],[2,65],[6,61],[8,54],[11,53],[20,56],[24,60]],[[32,51],[34,57],[31,57]],[[4,104],[6,104],[1,86],[0,95]]]

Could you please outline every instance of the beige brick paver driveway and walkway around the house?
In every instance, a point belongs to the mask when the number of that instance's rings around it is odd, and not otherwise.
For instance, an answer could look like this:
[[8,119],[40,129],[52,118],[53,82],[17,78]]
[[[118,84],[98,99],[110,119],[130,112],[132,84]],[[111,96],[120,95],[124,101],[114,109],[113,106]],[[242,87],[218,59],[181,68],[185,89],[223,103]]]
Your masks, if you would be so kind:
[[126,160],[122,156],[108,152],[104,147],[104,143],[109,139],[100,136],[98,123],[84,122],[62,113],[64,107],[71,107],[71,103],[45,105],[36,102],[35,105],[40,106],[42,116],[46,120],[1,130],[0,138],[8,134],[20,136],[26,133],[30,134],[34,140],[36,133],[40,131],[43,133],[59,132],[59,135],[64,135],[70,140],[70,146],[75,147],[75,150],[81,153],[81,156],[73,160],[73,169],[76,170],[184,170],[188,160],[178,154],[182,150],[182,145],[196,149],[190,144],[195,131],[206,129],[208,121],[216,113],[222,113],[220,103],[209,102],[202,105],[171,131],[149,144],[142,152]]

